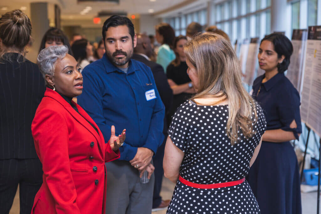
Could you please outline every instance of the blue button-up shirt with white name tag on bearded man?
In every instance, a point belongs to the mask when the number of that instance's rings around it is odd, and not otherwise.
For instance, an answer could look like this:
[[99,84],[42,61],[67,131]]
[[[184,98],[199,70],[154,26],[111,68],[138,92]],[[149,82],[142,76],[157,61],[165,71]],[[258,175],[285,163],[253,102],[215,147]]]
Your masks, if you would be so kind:
[[130,60],[127,73],[106,57],[87,65],[83,71],[83,90],[78,104],[100,128],[107,143],[110,127],[116,135],[126,129],[120,159],[132,160],[138,147],[156,153],[164,140],[165,107],[160,99],[151,69]]

